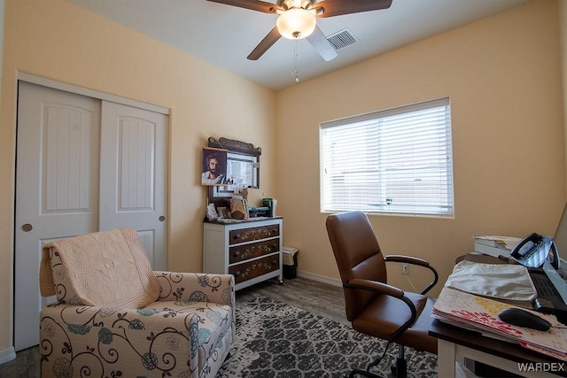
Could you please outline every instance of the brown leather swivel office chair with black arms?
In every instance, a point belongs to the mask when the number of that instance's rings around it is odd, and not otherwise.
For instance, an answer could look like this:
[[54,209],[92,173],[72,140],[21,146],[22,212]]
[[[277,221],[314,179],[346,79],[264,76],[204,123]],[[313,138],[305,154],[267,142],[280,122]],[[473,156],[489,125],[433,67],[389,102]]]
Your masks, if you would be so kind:
[[[390,343],[398,343],[400,350],[392,374],[406,376],[404,346],[437,354],[437,339],[428,335],[435,299],[424,295],[438,282],[437,271],[421,258],[384,257],[364,212],[330,215],[326,226],[345,289],[346,318],[357,331],[387,340],[386,350]],[[388,285],[385,263],[390,261],[423,266],[431,270],[433,281],[419,294]],[[380,376],[371,373],[370,368],[377,366],[382,357],[366,370],[355,369],[349,376]]]

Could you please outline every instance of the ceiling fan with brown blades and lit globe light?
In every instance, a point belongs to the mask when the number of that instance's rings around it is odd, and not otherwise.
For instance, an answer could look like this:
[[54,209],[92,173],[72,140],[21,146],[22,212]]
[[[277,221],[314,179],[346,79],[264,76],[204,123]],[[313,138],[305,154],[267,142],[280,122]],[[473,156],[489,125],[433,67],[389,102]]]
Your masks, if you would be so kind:
[[323,59],[337,57],[337,51],[316,25],[316,18],[340,16],[358,12],[387,9],[392,0],[277,0],[276,4],[262,0],[208,0],[214,3],[237,6],[252,11],[279,15],[268,35],[248,55],[248,59],[260,58],[280,37],[291,40],[306,38]]

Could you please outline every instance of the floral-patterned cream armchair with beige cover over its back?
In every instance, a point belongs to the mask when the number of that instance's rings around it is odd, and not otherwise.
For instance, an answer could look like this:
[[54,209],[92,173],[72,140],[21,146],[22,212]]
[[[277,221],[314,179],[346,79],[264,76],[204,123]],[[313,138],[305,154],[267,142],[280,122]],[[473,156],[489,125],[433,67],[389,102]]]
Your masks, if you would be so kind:
[[214,377],[235,333],[229,274],[152,272],[136,230],[43,248],[42,376]]

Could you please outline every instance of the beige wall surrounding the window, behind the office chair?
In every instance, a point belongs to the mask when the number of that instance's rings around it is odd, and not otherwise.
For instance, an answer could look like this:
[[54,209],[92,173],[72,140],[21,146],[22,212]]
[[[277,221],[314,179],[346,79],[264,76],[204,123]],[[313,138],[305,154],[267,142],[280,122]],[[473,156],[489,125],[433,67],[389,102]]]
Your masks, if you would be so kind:
[[[557,14],[555,1],[535,1],[278,92],[278,199],[300,273],[338,279],[319,206],[319,125],[443,96],[454,219],[371,216],[384,253],[429,259],[444,281],[473,235],[555,233],[565,204]],[[389,279],[411,289],[400,273]]]

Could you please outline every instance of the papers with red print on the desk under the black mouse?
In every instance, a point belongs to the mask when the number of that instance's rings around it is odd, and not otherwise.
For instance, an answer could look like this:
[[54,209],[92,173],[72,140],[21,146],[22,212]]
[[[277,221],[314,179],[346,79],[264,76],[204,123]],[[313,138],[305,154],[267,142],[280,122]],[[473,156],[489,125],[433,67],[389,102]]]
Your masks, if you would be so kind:
[[510,343],[519,343],[524,348],[567,361],[567,329],[560,328],[563,324],[554,315],[536,312],[552,324],[548,331],[538,331],[500,320],[498,312],[509,307],[513,306],[445,287],[433,306],[432,316],[448,324]]

